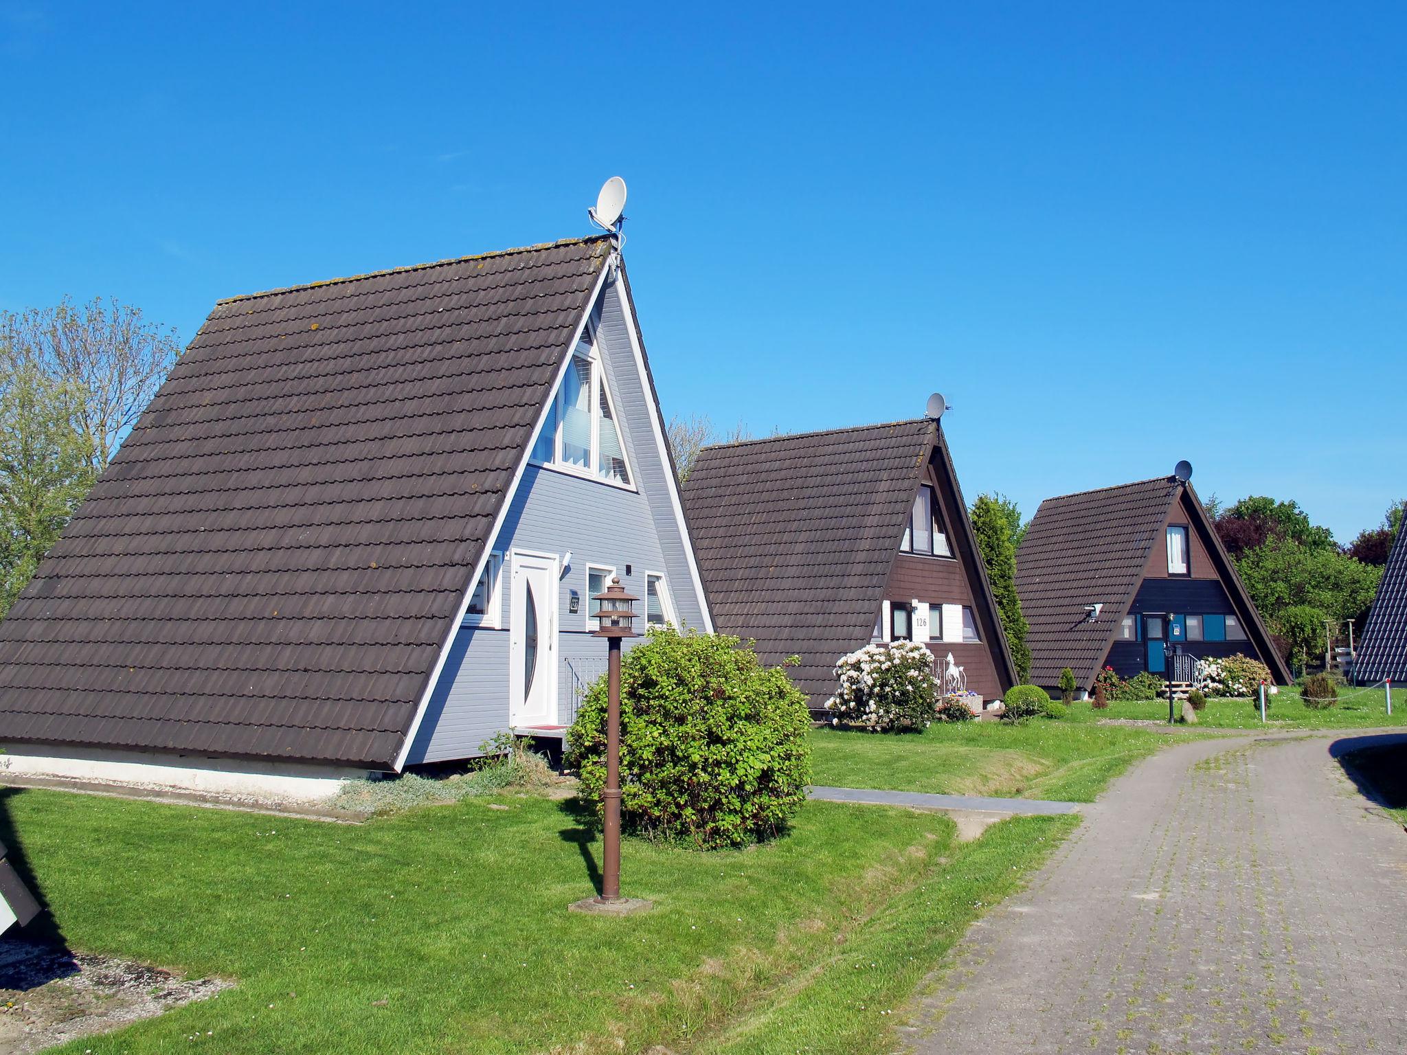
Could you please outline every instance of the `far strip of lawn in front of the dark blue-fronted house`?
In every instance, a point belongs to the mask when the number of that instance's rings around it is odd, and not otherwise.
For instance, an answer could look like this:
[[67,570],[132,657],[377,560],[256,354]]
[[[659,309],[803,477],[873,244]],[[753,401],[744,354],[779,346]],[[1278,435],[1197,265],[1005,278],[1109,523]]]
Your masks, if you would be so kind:
[[[1407,692],[1393,692],[1393,713],[1387,715],[1387,701],[1382,689],[1341,688],[1339,702],[1325,710],[1310,710],[1293,688],[1282,688],[1279,693],[1266,696],[1266,723],[1261,724],[1261,712],[1248,699],[1209,699],[1206,710],[1197,715],[1199,724],[1211,729],[1377,729],[1379,726],[1407,724]],[[1095,710],[1089,703],[1071,708],[1068,720],[1099,722],[1100,719],[1152,719],[1168,720],[1168,701],[1119,701],[1104,710]]]

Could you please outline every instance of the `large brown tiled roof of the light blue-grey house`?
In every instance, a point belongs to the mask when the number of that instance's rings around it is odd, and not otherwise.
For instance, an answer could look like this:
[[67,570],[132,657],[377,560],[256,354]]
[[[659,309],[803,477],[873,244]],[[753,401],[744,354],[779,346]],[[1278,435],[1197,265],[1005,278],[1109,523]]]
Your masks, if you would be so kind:
[[217,304],[0,625],[0,743],[393,764],[608,255]]

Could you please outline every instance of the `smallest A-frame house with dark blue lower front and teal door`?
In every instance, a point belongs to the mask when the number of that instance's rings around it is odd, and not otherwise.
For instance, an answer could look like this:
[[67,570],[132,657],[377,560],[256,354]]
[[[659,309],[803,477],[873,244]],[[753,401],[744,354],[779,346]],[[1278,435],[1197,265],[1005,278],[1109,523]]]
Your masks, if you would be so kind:
[[1057,691],[1065,667],[1085,691],[1106,665],[1165,674],[1169,650],[1241,653],[1290,682],[1186,470],[1041,502],[1016,554],[1033,684]]

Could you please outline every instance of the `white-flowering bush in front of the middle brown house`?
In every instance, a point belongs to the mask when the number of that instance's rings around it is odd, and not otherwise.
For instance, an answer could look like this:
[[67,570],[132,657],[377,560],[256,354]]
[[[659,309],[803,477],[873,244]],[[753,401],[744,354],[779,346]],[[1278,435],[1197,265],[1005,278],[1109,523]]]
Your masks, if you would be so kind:
[[933,653],[917,641],[867,644],[836,663],[840,686],[826,701],[833,726],[875,733],[923,729],[937,710]]

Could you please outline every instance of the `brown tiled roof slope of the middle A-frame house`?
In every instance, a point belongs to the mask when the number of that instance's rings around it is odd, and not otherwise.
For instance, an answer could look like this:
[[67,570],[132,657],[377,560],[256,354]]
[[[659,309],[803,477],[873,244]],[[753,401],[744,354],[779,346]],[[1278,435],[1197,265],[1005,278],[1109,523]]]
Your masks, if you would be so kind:
[[870,640],[936,436],[910,421],[706,447],[684,484],[715,626],[764,663],[799,656],[813,705]]

